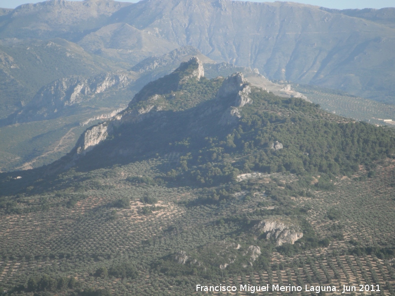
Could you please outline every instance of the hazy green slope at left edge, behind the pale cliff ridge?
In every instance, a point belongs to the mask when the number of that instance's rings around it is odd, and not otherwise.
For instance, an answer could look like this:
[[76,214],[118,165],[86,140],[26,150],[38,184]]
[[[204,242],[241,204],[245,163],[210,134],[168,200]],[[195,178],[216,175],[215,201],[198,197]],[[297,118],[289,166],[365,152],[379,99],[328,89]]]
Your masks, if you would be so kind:
[[69,76],[92,76],[130,66],[84,51],[65,39],[0,40],[0,118],[27,105],[40,88]]

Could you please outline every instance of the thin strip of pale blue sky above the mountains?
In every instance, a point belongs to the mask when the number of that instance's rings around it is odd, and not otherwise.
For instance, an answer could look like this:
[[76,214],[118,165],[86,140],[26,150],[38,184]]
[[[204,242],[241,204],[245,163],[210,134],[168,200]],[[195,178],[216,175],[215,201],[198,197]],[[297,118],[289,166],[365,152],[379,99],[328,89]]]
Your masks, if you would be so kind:
[[[137,0],[118,0],[122,2],[138,2]],[[274,0],[255,0],[256,2],[273,2]],[[38,0],[0,0],[0,7],[15,8],[24,3],[42,2]],[[324,6],[328,8],[383,8],[395,7],[395,0],[296,0],[294,2]]]

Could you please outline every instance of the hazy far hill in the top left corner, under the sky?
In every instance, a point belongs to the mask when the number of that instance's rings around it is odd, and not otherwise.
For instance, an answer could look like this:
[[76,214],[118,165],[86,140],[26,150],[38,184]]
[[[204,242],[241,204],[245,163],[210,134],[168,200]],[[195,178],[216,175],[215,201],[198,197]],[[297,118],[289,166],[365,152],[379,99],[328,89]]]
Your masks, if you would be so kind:
[[108,18],[130,3],[113,0],[50,0],[16,7],[0,19],[1,38],[61,37],[71,41],[107,24]]

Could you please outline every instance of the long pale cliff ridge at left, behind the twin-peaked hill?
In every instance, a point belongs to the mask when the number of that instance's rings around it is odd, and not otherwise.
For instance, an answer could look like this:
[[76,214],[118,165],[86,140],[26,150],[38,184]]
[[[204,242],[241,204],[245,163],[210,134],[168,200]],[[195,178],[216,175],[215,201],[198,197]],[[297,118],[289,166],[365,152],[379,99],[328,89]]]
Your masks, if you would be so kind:
[[93,77],[69,76],[45,85],[22,111],[13,115],[13,123],[57,117],[67,108],[88,101],[110,88],[124,88],[134,81],[133,72],[116,72]]

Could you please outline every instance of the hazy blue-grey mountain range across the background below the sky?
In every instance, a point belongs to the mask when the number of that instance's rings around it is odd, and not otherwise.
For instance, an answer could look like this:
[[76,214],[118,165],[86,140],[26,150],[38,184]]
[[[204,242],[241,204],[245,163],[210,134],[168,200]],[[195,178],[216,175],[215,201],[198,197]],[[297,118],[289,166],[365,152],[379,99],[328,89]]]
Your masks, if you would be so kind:
[[[394,103],[394,20],[394,8],[334,10],[294,2],[50,0],[2,10],[0,38],[63,38],[126,68],[191,45],[216,62],[257,68],[269,79]],[[15,46],[7,42],[2,46]],[[22,84],[30,79],[9,75]]]

